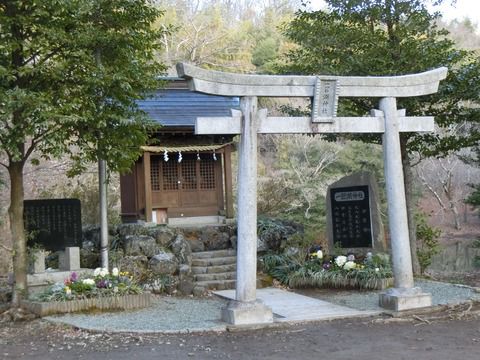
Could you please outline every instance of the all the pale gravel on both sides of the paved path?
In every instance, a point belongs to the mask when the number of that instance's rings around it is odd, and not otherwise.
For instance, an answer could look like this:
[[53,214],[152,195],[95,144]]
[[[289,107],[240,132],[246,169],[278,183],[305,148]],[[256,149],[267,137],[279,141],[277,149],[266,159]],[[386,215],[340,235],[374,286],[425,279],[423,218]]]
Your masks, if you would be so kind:
[[[432,294],[433,305],[457,304],[470,299],[480,301],[474,289],[448,283],[418,280],[416,286]],[[295,290],[307,296],[348,306],[358,310],[379,310],[380,291],[345,291],[327,289]],[[189,333],[223,331],[226,324],[220,319],[226,300],[211,298],[180,298],[155,296],[149,308],[135,311],[67,314],[45,319],[75,327],[108,332]]]

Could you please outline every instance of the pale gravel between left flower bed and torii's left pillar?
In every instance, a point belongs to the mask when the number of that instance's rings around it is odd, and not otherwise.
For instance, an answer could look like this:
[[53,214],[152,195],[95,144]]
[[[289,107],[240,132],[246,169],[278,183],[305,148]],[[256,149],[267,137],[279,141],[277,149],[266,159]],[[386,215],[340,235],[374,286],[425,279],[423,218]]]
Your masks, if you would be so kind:
[[96,331],[189,333],[223,331],[221,308],[226,302],[215,298],[180,298],[155,296],[152,306],[142,310],[66,314],[48,316],[53,322]]

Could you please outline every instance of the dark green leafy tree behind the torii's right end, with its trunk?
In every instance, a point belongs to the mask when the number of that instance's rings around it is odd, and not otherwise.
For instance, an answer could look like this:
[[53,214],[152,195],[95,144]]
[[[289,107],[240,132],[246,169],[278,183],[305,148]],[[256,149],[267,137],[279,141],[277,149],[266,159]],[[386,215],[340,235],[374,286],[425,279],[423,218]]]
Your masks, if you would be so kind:
[[[437,1],[439,3],[441,1]],[[447,66],[449,74],[437,94],[399,99],[409,115],[434,115],[443,128],[461,129],[450,136],[401,134],[401,149],[409,215],[414,272],[416,257],[411,154],[440,155],[476,144],[480,138],[480,61],[458,50],[447,31],[436,26],[422,0],[326,0],[328,10],[299,11],[285,34],[297,47],[290,51],[280,72],[332,75],[402,75]],[[366,114],[374,99],[347,99],[339,114]],[[463,124],[463,127],[458,125]],[[368,138],[380,142],[380,138]]]

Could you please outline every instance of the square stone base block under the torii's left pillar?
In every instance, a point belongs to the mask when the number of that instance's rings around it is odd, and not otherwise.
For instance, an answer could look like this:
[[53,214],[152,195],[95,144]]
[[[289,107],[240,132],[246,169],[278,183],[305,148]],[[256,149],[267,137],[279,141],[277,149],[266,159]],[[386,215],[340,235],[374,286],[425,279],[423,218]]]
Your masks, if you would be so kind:
[[222,309],[222,320],[232,325],[268,324],[273,322],[273,313],[261,300],[232,300]]

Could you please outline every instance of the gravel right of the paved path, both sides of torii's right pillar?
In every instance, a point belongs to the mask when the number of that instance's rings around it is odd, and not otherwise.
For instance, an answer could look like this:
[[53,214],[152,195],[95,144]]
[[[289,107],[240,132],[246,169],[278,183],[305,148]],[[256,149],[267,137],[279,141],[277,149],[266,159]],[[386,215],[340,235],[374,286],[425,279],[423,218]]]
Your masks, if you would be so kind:
[[[458,304],[471,299],[480,301],[480,293],[464,285],[416,280],[415,286],[420,287],[426,293],[432,294],[433,305]],[[381,291],[304,289],[296,292],[357,310],[382,310],[378,306],[378,294]],[[314,292],[317,294],[314,294]]]

